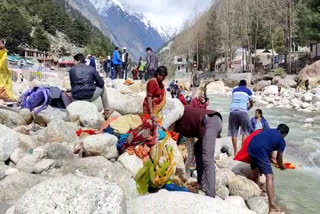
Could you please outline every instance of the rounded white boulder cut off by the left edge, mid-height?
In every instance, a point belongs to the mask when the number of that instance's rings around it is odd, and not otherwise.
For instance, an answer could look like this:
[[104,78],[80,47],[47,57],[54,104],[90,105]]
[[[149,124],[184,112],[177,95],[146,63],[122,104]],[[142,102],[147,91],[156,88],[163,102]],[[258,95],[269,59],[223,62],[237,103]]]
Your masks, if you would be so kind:
[[0,161],[6,161],[19,145],[17,133],[0,124]]

